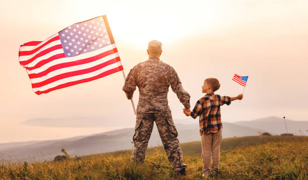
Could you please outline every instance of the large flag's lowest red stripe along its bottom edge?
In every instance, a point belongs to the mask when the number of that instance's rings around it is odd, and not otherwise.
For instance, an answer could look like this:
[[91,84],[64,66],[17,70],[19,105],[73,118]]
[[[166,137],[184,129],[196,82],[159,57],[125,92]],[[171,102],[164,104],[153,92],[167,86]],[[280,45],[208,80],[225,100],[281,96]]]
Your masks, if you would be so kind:
[[113,73],[121,71],[121,70],[123,70],[123,66],[119,66],[119,67],[107,70],[105,72],[102,72],[101,74],[98,74],[96,76],[89,77],[89,78],[86,78],[86,79],[76,80],[76,81],[72,81],[72,82],[66,82],[66,83],[57,85],[55,87],[49,88],[45,91],[37,91],[37,92],[35,92],[35,94],[40,95],[40,94],[43,94],[43,93],[49,93],[49,92],[54,91],[56,89],[68,87],[68,86],[71,86],[71,85],[80,84],[80,83],[83,83],[83,82],[89,82],[89,81],[92,81],[92,80],[95,80],[95,79],[98,79],[98,78],[101,78],[101,77],[105,77],[107,75],[113,74]]

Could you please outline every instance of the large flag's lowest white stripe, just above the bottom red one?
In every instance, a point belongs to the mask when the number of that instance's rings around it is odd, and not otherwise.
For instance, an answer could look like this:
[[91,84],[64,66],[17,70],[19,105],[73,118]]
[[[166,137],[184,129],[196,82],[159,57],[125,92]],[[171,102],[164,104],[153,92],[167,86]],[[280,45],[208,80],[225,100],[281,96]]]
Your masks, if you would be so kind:
[[81,75],[76,75],[76,76],[67,77],[67,78],[54,81],[54,82],[52,82],[52,83],[49,83],[49,84],[44,85],[44,86],[41,86],[41,87],[33,88],[33,91],[34,91],[34,92],[37,92],[37,91],[46,91],[47,89],[52,88],[52,87],[55,87],[55,86],[57,86],[57,85],[64,84],[64,83],[67,83],[67,82],[76,81],[76,80],[81,80],[81,79],[90,78],[90,77],[99,75],[99,74],[102,73],[102,72],[105,72],[105,71],[107,71],[107,70],[110,70],[110,69],[113,69],[113,68],[116,68],[116,67],[118,67],[118,63],[113,63],[113,64],[110,64],[109,66],[106,66],[106,67],[101,68],[101,69],[99,69],[99,70],[97,70],[97,71],[94,71],[94,72],[90,72],[90,73],[87,73],[87,74],[81,74]]

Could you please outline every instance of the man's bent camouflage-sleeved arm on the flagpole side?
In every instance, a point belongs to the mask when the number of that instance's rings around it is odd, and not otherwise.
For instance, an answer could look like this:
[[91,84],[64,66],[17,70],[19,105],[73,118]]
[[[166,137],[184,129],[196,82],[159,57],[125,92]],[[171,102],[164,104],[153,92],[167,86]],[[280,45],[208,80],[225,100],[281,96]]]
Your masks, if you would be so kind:
[[127,99],[132,99],[136,89],[136,66],[130,69],[122,89],[125,92]]

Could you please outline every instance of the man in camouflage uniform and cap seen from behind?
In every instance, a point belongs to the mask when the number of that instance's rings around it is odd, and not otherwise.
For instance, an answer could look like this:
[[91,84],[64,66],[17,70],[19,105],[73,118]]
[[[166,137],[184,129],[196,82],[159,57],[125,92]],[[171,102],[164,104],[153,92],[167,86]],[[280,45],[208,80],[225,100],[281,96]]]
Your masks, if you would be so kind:
[[176,172],[185,173],[186,164],[183,163],[182,149],[178,140],[178,132],[168,106],[167,94],[169,86],[177,94],[185,109],[190,109],[190,95],[183,89],[177,72],[168,64],[160,61],[162,43],[156,40],[148,43],[149,59],[134,66],[126,77],[123,91],[127,99],[132,99],[136,86],[139,88],[139,102],[135,134],[133,136],[134,149],[131,161],[144,161],[147,143],[156,122],[159,134],[164,144],[170,163]]

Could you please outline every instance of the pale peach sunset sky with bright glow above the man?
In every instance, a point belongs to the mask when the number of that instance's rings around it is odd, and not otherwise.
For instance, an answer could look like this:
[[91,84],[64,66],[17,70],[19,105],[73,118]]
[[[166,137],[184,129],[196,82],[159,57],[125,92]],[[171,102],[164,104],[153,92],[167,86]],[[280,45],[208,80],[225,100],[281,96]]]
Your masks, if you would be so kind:
[[[161,60],[177,71],[192,107],[204,96],[201,85],[207,77],[219,79],[216,94],[242,94],[243,86],[231,80],[237,73],[249,76],[244,99],[221,108],[223,122],[268,116],[307,121],[307,8],[304,0],[7,1],[0,8],[0,143],[134,127],[121,72],[38,96],[18,61],[21,44],[43,41],[71,24],[102,15],[107,15],[126,74],[147,60],[147,43],[156,39],[163,43]],[[171,89],[168,100],[176,123],[197,123],[183,114],[183,105]],[[133,101],[137,106],[137,91]],[[37,118],[102,123],[21,124]]]

